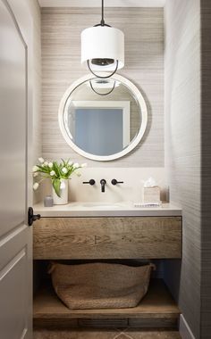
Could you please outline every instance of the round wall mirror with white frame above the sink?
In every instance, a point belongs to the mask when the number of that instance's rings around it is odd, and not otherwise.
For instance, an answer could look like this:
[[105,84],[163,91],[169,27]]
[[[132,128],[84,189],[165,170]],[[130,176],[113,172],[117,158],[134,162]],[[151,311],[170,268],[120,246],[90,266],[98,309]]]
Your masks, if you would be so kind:
[[130,80],[89,75],[75,81],[59,106],[59,126],[73,150],[96,161],[131,152],[147,127],[147,105]]

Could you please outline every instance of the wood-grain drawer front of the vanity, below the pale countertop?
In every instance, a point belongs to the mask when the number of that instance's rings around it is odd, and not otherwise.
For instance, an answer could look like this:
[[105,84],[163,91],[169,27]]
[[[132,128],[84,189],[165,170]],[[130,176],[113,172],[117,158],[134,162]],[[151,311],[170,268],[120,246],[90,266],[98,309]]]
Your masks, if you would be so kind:
[[34,259],[181,258],[181,217],[42,218]]

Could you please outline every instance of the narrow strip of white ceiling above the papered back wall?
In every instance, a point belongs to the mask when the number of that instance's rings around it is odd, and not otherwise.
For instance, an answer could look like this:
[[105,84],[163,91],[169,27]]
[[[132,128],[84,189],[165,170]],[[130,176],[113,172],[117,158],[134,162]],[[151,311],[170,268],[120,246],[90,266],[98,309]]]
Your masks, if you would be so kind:
[[[100,7],[101,0],[38,0],[41,7]],[[164,7],[165,0],[105,0],[105,7]]]

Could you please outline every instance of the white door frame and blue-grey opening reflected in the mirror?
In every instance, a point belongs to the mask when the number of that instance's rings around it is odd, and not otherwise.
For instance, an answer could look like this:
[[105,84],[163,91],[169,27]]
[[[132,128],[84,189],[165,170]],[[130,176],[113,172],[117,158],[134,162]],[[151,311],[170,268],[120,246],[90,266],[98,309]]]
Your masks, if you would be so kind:
[[67,133],[87,153],[111,155],[131,142],[129,101],[72,101],[67,108]]

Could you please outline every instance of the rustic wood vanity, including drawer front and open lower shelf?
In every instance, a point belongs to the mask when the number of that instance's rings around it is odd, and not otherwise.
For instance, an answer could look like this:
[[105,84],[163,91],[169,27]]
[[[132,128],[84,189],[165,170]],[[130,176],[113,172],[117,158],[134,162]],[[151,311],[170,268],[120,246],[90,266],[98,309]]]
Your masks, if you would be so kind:
[[[36,208],[44,217],[33,228],[34,260],[181,258],[180,209],[166,205],[112,216],[98,211],[95,217],[62,209]],[[41,286],[34,300],[35,327],[176,327],[179,315],[162,279],[152,279],[148,294],[132,309],[69,310],[49,285]]]

